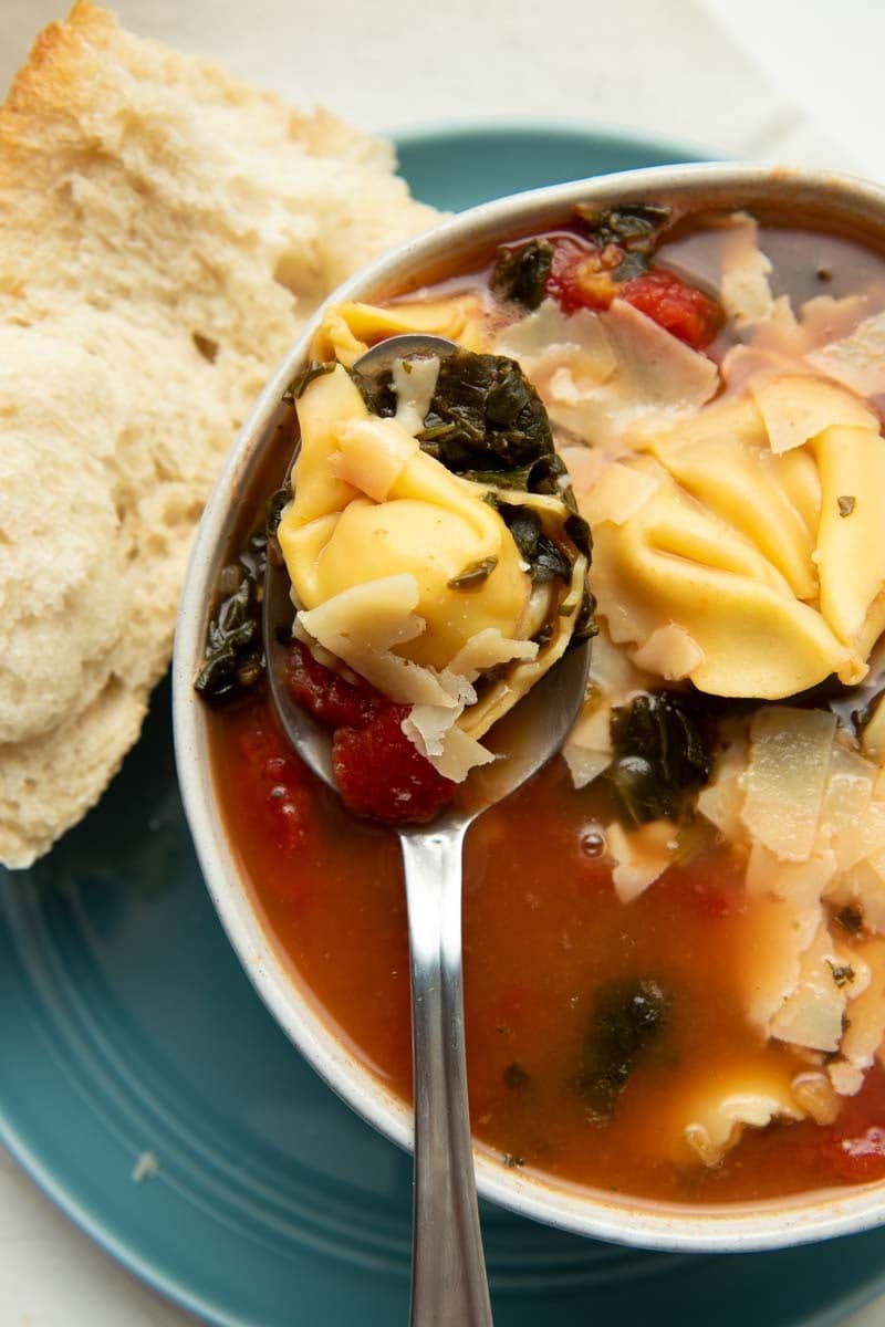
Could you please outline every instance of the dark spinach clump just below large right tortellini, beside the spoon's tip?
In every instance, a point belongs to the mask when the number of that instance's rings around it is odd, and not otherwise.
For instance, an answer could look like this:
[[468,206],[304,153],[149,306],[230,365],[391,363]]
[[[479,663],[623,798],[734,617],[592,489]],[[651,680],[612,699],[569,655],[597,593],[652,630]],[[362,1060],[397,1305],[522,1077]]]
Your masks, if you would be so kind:
[[609,778],[636,824],[678,816],[687,794],[710,778],[711,722],[682,691],[646,691],[612,711]]

